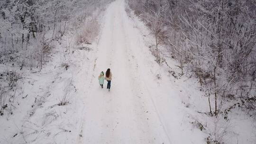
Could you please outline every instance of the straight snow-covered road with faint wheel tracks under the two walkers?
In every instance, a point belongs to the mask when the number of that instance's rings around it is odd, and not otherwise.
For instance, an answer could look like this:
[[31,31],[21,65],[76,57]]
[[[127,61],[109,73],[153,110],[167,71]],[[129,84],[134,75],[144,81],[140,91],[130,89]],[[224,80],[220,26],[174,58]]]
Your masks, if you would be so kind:
[[[113,2],[106,11],[105,24],[98,46],[91,92],[85,99],[83,123],[85,144],[162,144],[168,142],[158,120],[148,120],[146,105],[141,100],[142,78],[131,58],[131,46],[137,43],[134,28],[124,9],[124,1]],[[137,48],[138,44],[135,44]],[[140,54],[136,54],[139,56]],[[101,89],[97,77],[110,68],[113,73],[111,91]],[[154,107],[150,110],[154,111]],[[152,111],[151,110],[151,111]]]

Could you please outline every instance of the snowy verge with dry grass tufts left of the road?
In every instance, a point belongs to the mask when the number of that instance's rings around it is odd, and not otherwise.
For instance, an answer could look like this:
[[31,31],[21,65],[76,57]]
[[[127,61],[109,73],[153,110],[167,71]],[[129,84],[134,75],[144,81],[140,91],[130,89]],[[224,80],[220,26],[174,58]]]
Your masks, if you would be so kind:
[[[81,81],[87,80],[92,58],[89,49],[67,46],[72,39],[63,37],[41,72],[8,70],[22,74],[14,103],[0,119],[0,144],[73,144],[81,121]],[[93,49],[95,44],[86,46]]]

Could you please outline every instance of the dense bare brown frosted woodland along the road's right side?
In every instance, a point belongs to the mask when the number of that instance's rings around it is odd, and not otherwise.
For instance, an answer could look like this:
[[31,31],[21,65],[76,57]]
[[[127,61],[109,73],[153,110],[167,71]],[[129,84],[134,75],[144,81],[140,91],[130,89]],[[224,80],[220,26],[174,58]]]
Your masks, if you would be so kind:
[[[217,116],[227,99],[255,114],[256,2],[254,0],[129,0],[166,45],[179,68],[193,72]],[[157,52],[157,62],[165,63]],[[217,101],[219,99],[219,101]]]

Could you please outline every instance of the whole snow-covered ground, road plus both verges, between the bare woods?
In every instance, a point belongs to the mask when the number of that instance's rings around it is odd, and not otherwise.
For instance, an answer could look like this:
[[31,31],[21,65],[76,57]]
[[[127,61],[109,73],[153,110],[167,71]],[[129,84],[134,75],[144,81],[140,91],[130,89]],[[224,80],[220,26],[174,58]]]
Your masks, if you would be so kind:
[[[198,111],[208,111],[208,98],[195,79],[175,79],[155,62],[148,48],[154,39],[125,8],[124,0],[108,6],[100,36],[83,45],[88,49],[69,34],[42,72],[23,70],[14,114],[0,117],[0,144],[206,144],[216,120]],[[98,84],[108,68],[110,91],[106,81],[103,89]],[[227,144],[255,144],[253,118],[231,117]]]

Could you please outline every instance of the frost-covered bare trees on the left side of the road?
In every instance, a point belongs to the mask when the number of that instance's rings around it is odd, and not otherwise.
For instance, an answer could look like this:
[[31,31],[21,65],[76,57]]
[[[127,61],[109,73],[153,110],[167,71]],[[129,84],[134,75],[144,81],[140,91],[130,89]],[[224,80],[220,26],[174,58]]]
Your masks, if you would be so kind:
[[69,28],[81,25],[110,0],[0,0],[0,54],[19,55],[20,66],[38,67]]

